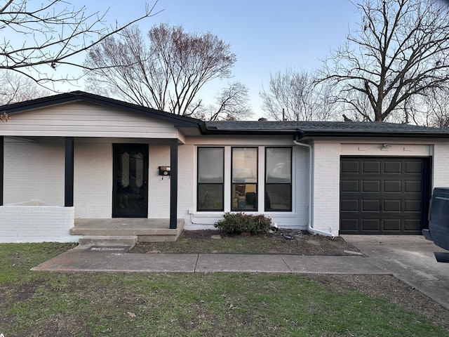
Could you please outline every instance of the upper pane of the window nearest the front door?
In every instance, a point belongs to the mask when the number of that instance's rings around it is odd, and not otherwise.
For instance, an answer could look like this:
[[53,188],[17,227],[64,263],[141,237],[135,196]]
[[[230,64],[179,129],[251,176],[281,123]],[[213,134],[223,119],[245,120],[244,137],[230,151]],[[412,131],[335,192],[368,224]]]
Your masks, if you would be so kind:
[[223,148],[198,149],[198,182],[223,183]]

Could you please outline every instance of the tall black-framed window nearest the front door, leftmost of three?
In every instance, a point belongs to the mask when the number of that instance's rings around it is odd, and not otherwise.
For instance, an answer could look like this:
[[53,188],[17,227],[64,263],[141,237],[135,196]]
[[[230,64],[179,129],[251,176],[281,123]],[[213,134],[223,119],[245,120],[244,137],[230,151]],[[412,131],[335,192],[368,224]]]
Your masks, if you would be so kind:
[[198,148],[198,211],[223,211],[224,147]]

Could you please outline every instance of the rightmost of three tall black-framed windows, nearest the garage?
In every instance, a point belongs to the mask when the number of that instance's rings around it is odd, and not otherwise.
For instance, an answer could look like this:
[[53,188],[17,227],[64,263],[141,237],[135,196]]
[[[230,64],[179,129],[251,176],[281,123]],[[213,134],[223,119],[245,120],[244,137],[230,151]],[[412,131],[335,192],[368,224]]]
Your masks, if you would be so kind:
[[292,210],[292,148],[265,147],[265,211]]

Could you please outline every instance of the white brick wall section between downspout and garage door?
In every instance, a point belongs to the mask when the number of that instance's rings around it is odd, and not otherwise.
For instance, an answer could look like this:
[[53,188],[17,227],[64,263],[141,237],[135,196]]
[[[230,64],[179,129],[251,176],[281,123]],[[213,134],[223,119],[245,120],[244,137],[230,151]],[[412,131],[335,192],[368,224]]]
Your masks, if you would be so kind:
[[338,235],[340,227],[340,144],[314,144],[313,225]]

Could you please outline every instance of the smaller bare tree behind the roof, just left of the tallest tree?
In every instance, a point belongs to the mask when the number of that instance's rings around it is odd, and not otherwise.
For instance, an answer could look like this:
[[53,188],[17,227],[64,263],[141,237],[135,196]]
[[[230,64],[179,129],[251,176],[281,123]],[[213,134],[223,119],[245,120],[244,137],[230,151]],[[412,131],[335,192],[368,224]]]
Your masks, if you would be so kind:
[[262,110],[276,121],[316,121],[332,118],[330,86],[316,84],[309,72],[292,67],[270,75],[269,88],[262,88]]

